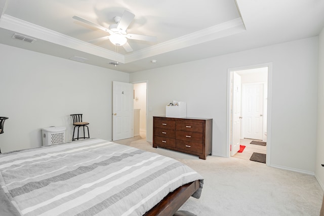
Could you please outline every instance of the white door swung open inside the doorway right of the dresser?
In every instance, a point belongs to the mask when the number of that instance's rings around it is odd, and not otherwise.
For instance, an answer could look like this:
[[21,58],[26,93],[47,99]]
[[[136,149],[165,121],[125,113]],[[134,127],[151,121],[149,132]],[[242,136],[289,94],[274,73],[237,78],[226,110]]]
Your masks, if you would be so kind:
[[231,156],[239,150],[241,132],[241,76],[233,72],[232,97],[232,148]]

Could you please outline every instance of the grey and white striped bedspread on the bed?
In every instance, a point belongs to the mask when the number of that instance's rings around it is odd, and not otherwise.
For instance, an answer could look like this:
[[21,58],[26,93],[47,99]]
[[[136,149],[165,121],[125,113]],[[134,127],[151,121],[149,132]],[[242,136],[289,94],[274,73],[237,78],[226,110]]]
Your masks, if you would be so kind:
[[143,215],[176,188],[203,185],[177,160],[100,139],[1,154],[0,174],[0,212],[21,215]]

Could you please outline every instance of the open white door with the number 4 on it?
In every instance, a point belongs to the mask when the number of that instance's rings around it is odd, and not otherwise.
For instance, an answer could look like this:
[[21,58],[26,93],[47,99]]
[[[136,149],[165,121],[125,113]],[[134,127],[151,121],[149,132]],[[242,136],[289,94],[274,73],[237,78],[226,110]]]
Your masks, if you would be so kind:
[[112,82],[112,140],[133,137],[133,84]]

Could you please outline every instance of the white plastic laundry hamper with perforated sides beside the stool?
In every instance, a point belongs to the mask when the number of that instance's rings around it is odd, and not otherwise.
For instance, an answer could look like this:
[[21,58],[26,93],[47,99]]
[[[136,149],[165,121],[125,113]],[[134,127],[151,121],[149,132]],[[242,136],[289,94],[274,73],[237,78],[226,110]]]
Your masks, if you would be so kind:
[[42,128],[43,146],[65,143],[66,127],[44,127]]

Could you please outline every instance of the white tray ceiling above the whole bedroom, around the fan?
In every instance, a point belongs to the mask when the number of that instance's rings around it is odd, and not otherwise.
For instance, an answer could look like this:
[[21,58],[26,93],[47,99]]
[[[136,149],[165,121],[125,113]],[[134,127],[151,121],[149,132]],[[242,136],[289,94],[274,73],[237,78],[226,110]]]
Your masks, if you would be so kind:
[[[128,33],[157,42],[129,39],[134,51],[116,53],[109,40],[87,42],[106,32],[72,18],[108,27],[125,10],[135,14]],[[131,73],[316,36],[324,27],[324,1],[0,0],[0,15],[2,44]]]

